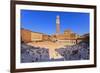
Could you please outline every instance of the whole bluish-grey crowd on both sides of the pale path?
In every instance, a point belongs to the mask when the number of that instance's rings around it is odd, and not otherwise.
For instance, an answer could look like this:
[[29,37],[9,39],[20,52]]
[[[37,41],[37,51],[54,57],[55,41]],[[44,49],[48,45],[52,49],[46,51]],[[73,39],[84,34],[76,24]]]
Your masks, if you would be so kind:
[[[55,49],[63,58],[59,60],[88,60],[89,45],[81,42],[73,46],[65,46],[64,48]],[[57,61],[49,58],[49,49],[29,46],[25,43],[21,45],[21,62],[44,62]]]

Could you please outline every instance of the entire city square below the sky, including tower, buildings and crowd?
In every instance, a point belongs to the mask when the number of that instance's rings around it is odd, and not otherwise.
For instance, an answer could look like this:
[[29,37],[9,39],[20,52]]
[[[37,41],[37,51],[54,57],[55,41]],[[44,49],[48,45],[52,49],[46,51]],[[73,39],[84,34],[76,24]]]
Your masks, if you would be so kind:
[[61,33],[59,15],[55,21],[52,35],[21,28],[21,62],[89,59],[89,33],[79,35],[70,29]]

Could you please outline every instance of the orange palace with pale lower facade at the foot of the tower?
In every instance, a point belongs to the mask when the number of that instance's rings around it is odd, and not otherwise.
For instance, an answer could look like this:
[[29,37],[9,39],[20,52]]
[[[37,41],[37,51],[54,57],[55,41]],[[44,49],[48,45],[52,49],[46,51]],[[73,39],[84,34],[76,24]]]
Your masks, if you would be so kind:
[[63,34],[55,34],[52,36],[52,39],[62,43],[67,43],[68,45],[75,45],[77,43],[76,34],[70,30],[64,31]]

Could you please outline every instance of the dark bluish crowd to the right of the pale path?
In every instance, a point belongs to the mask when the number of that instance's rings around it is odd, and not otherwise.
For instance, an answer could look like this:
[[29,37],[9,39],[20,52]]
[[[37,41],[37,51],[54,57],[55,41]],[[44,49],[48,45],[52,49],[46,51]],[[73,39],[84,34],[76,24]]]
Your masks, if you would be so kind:
[[85,42],[81,42],[73,46],[65,46],[64,48],[56,49],[56,51],[63,56],[64,60],[89,59],[89,45]]

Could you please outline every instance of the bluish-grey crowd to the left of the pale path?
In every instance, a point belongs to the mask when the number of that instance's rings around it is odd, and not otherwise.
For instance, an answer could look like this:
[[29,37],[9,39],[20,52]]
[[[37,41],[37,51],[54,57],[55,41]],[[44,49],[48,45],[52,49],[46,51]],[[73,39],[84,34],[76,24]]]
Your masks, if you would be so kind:
[[49,51],[46,48],[21,45],[21,62],[42,62],[49,60]]

